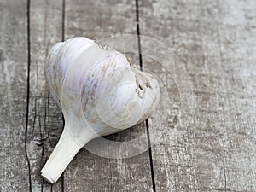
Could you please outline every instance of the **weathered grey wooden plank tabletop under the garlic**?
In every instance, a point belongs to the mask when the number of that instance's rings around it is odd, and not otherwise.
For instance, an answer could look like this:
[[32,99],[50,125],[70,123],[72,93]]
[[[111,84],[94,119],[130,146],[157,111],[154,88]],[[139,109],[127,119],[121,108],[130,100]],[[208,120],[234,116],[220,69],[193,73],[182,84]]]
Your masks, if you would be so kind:
[[[253,0],[0,0],[0,191],[256,191],[255,10]],[[108,138],[148,133],[159,142],[118,160],[82,149],[57,183],[44,182],[40,170],[63,127],[44,79],[49,49],[75,36],[124,33],[175,51],[193,113],[179,113],[177,82],[142,56],[169,95],[148,124]]]

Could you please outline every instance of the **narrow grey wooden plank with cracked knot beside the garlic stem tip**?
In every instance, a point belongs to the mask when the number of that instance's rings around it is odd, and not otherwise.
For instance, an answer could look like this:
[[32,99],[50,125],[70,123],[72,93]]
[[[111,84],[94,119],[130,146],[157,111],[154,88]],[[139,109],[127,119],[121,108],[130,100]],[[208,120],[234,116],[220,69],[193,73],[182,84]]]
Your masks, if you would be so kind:
[[62,37],[62,0],[31,1],[30,5],[30,97],[27,129],[27,153],[31,166],[32,191],[61,191],[61,179],[55,185],[44,181],[40,171],[61,136],[61,109],[49,94],[44,67],[53,44]]

